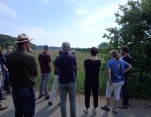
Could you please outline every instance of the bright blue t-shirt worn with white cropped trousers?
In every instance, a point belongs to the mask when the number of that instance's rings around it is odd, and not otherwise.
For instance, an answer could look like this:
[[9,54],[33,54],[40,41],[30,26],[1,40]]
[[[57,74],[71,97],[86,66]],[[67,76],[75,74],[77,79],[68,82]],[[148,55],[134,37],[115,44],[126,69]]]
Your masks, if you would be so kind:
[[113,83],[124,81],[124,69],[128,66],[129,64],[123,60],[108,60],[106,68],[111,69],[111,80]]

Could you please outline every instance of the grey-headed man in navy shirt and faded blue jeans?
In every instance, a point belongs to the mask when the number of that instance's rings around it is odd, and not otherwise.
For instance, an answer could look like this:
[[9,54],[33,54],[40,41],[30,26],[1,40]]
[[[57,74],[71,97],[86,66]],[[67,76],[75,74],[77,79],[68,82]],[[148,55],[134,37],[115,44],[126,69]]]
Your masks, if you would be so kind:
[[75,85],[75,56],[69,54],[70,44],[68,42],[62,43],[63,54],[56,58],[55,67],[59,70],[59,84],[60,84],[60,99],[61,99],[61,115],[66,115],[66,96],[69,93],[70,99],[70,115],[76,117],[76,85]]

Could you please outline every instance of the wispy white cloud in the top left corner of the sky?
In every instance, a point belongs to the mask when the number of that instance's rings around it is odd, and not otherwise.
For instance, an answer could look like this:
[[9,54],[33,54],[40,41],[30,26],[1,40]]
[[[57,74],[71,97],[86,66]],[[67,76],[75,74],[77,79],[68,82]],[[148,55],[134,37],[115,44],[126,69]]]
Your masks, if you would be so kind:
[[17,19],[17,17],[18,17],[14,9],[9,7],[7,4],[2,3],[1,1],[0,1],[0,14],[8,15],[14,19]]

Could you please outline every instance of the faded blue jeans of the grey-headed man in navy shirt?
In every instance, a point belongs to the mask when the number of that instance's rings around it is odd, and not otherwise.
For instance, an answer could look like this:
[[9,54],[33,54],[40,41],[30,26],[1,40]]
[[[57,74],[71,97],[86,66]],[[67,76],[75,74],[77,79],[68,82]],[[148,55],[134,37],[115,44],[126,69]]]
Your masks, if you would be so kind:
[[61,100],[61,115],[62,117],[67,117],[66,114],[66,97],[67,92],[69,93],[70,100],[70,117],[76,117],[76,84],[60,84],[60,100]]

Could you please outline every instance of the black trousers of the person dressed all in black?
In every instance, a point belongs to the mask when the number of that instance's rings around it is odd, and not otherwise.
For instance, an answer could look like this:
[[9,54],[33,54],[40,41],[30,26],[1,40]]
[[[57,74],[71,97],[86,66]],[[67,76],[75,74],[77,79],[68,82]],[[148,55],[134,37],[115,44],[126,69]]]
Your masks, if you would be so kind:
[[92,95],[93,95],[93,106],[94,108],[98,107],[98,86],[99,83],[87,83],[85,82],[85,107],[89,108],[90,107],[90,95],[91,95],[91,91],[92,91]]

